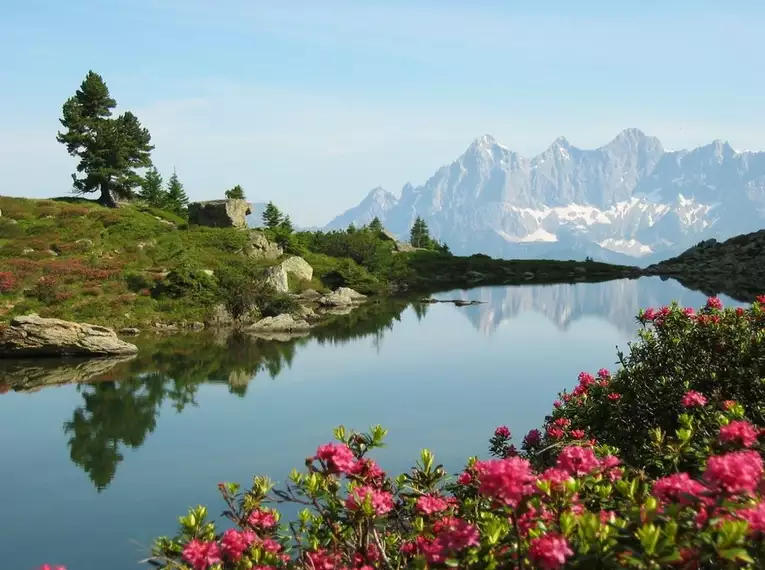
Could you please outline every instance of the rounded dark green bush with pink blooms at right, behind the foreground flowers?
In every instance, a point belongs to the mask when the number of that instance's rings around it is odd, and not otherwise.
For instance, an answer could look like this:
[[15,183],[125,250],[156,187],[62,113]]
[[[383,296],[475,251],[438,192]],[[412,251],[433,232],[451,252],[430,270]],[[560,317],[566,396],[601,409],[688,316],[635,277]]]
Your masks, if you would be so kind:
[[[748,309],[725,309],[716,297],[697,311],[672,304],[641,311],[638,321],[643,328],[629,354],[619,354],[621,369],[580,374],[560,395],[536,449],[586,433],[618,449],[624,463],[661,476],[698,469],[706,457],[690,445],[680,459],[657,455],[666,433],[716,433],[720,413],[736,402],[741,414],[765,425],[765,297]],[[721,437],[750,447],[759,428],[733,424]]]

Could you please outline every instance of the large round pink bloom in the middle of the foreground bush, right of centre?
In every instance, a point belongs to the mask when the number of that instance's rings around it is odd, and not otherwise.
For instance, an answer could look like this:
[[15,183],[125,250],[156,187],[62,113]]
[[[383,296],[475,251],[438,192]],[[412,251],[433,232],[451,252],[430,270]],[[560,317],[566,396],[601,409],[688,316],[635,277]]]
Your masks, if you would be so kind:
[[478,474],[478,491],[510,507],[515,507],[523,497],[534,492],[534,474],[525,459],[490,459],[475,464]]

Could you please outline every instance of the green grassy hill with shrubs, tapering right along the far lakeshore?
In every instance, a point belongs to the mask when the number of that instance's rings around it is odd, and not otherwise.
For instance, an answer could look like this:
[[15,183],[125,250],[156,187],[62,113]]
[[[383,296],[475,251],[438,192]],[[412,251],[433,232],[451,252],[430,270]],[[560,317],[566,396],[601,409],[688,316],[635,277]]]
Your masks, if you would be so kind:
[[[110,209],[82,199],[0,197],[0,211],[4,320],[37,312],[111,327],[205,321],[216,304],[244,290],[250,300],[257,297],[263,314],[286,311],[294,303],[267,289],[250,290],[278,260],[248,257],[247,230],[189,227],[183,218],[146,206]],[[281,243],[285,256],[300,255],[314,268],[312,282],[291,282],[293,290],[345,285],[366,294],[432,292],[638,274],[635,268],[593,262],[399,253],[394,242],[367,231],[266,235]]]

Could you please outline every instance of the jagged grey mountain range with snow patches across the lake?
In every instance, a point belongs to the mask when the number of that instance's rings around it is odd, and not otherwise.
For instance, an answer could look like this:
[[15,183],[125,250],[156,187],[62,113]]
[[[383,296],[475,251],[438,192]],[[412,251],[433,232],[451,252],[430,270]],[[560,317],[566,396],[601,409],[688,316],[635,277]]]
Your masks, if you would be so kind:
[[401,238],[416,216],[459,254],[645,265],[765,225],[765,152],[715,141],[665,151],[638,129],[584,150],[565,138],[523,157],[484,135],[399,197],[376,188],[327,229],[375,216]]

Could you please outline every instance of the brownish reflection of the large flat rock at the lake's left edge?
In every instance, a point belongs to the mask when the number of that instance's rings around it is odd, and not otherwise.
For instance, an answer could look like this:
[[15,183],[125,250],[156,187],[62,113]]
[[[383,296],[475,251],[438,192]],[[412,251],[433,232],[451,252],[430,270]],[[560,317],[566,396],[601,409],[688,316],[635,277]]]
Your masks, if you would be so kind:
[[57,358],[40,360],[4,360],[0,362],[0,378],[17,392],[31,392],[45,386],[101,380],[117,364],[135,356],[108,358]]

